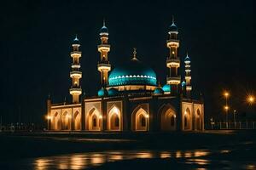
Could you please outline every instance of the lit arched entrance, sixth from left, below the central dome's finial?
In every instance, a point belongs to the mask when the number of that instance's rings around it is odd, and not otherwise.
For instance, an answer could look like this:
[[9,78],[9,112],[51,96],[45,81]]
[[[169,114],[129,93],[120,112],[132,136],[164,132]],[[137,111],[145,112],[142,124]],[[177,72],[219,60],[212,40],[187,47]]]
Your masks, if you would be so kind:
[[131,125],[134,131],[148,131],[148,113],[143,108],[135,109],[131,114]]

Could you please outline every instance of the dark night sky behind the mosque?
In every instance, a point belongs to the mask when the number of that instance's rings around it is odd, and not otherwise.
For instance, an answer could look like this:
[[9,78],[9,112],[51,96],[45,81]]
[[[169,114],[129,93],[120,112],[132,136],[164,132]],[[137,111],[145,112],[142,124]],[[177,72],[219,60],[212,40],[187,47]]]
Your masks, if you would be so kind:
[[[106,19],[110,62],[138,58],[166,81],[166,38],[175,16],[181,47],[192,60],[192,82],[206,100],[206,115],[219,116],[224,88],[233,108],[245,111],[256,90],[255,3],[248,1],[5,1],[0,5],[1,103],[4,122],[41,122],[48,94],[62,102],[71,86],[70,45],[79,34],[82,88],[99,87],[98,33]],[[196,85],[195,85],[196,84]]]

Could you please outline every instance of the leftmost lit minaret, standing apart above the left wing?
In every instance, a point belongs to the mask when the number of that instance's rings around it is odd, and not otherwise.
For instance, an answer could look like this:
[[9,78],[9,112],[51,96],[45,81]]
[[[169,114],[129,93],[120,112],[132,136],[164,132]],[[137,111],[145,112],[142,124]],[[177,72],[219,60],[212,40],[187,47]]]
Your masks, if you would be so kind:
[[72,71],[70,72],[70,77],[72,78],[72,87],[69,89],[69,93],[72,95],[73,103],[79,103],[79,95],[82,94],[82,88],[80,86],[80,78],[82,78],[82,72],[80,70],[79,59],[82,53],[79,51],[80,42],[76,36],[73,39],[73,51],[70,56],[73,58],[73,63],[71,65]]

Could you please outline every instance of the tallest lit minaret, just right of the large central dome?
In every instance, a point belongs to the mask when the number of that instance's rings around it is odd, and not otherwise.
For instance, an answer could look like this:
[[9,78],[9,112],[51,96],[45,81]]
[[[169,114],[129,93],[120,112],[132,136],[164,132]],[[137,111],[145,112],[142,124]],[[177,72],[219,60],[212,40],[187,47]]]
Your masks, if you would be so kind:
[[166,42],[167,48],[170,49],[170,54],[166,59],[166,66],[170,72],[166,78],[166,83],[171,85],[171,94],[177,94],[178,85],[180,84],[180,76],[178,68],[180,66],[180,59],[177,57],[177,48],[179,47],[179,40],[177,39],[177,26],[174,24],[172,18],[172,26],[169,27],[169,39]]

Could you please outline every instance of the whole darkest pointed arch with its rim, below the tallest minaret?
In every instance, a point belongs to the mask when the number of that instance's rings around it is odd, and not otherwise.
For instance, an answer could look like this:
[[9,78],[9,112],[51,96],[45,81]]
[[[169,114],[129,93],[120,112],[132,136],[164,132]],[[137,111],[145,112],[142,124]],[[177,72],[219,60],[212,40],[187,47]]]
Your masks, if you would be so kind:
[[175,108],[170,105],[162,105],[159,110],[160,129],[162,131],[174,131],[177,127],[177,113]]

